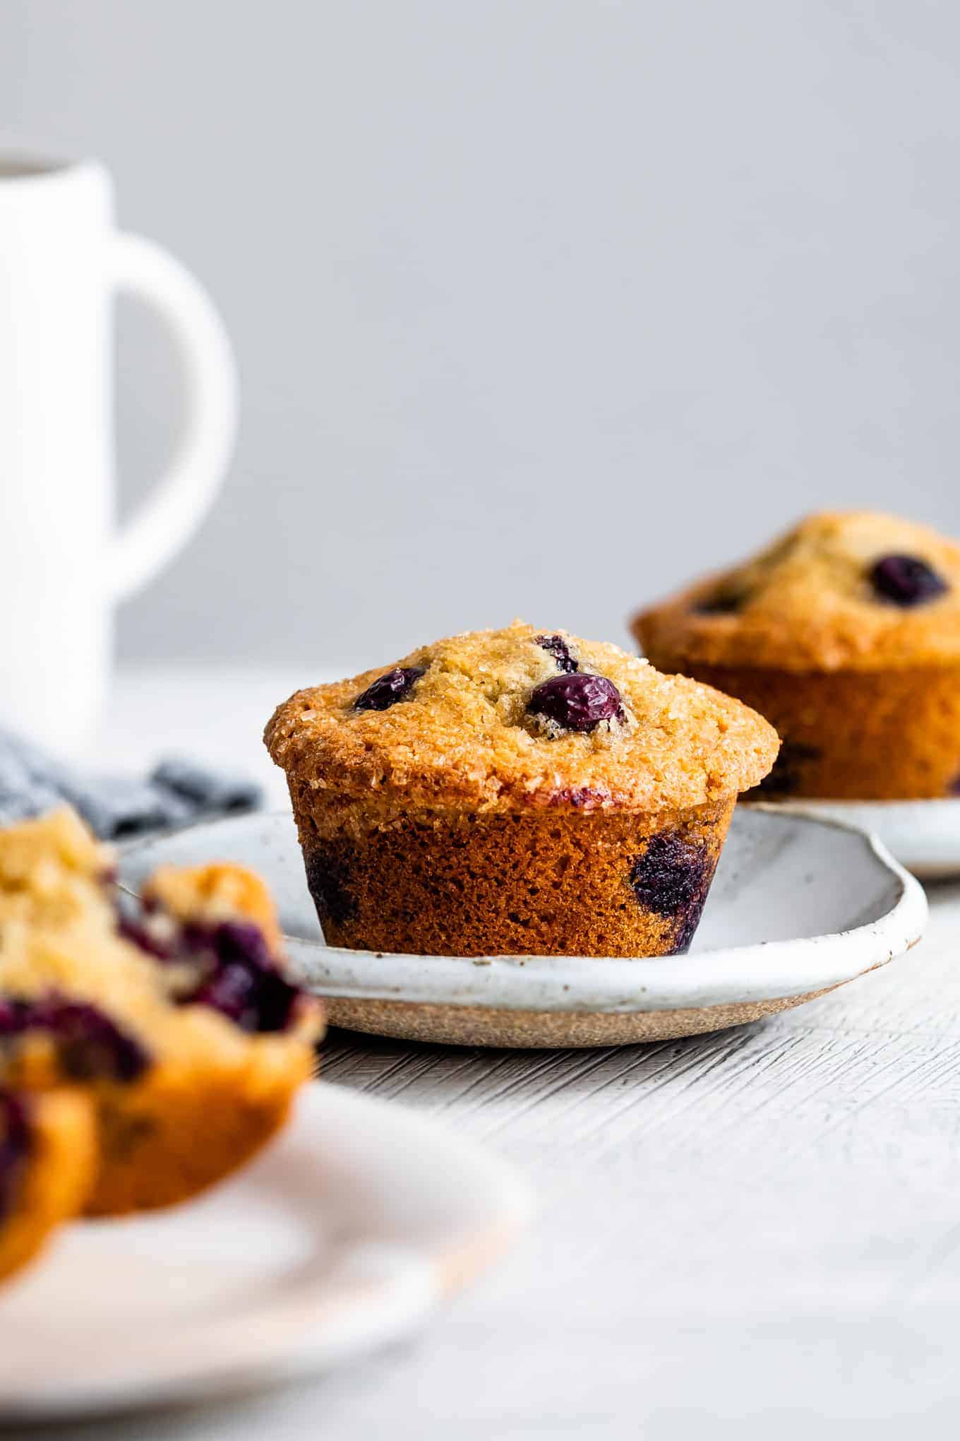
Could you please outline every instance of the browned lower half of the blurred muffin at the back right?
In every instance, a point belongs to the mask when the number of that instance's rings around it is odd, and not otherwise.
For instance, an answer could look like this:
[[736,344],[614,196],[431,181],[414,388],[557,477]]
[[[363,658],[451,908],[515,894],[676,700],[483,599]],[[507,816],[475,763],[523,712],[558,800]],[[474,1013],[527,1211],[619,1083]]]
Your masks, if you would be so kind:
[[753,706],[783,736],[773,771],[747,798],[936,800],[960,794],[960,667],[685,669]]

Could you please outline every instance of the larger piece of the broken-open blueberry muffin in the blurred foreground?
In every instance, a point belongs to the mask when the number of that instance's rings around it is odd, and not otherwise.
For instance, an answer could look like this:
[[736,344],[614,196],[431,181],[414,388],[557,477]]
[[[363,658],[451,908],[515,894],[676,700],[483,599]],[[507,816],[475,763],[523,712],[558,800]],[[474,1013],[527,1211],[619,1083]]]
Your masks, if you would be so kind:
[[248,1160],[321,1030],[253,875],[161,870],[124,912],[111,865],[68,810],[0,833],[0,1082],[91,1098],[91,1213],[183,1200]]

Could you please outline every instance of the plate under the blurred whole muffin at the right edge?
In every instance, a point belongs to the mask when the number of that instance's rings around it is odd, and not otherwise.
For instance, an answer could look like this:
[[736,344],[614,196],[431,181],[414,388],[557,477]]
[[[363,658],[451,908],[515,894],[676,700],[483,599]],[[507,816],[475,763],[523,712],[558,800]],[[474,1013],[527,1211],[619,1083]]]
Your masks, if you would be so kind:
[[960,798],[943,801],[783,801],[786,810],[868,830],[921,880],[960,876]]

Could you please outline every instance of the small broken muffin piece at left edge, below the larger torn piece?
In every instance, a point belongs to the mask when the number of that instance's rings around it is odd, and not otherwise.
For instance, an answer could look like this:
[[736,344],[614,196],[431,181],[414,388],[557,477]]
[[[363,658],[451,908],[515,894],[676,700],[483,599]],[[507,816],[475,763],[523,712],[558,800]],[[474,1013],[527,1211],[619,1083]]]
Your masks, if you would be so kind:
[[83,1208],[94,1183],[94,1108],[79,1091],[0,1091],[0,1281]]

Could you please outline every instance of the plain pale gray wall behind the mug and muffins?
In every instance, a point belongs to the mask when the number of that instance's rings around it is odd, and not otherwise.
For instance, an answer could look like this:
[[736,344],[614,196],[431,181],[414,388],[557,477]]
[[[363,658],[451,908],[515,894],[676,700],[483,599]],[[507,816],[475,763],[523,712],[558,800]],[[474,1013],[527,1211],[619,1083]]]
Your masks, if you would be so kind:
[[[4,144],[206,281],[243,429],[125,656],[376,664],[626,612],[797,513],[960,529],[960,12],[6,0]],[[130,504],[177,414],[121,314]]]

